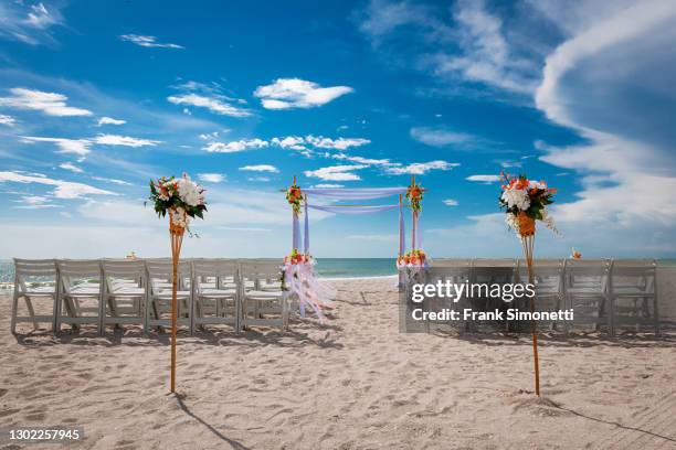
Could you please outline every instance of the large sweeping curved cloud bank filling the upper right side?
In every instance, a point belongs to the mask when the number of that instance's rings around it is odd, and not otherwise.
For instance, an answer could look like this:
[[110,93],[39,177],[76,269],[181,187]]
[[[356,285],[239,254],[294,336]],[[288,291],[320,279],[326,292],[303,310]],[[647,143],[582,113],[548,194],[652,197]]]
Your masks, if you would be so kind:
[[[676,158],[673,127],[664,124],[676,107],[676,3],[608,2],[603,13],[592,13],[596,8],[582,3],[573,17],[546,10],[569,39],[548,55],[536,105],[584,138],[568,147],[536,142],[542,161],[580,174],[582,191],[572,202],[556,204],[552,213],[563,233],[572,228],[591,248],[603,243],[641,255],[669,251],[665,243],[676,238],[670,195]],[[581,223],[593,227],[577,234]],[[612,233],[588,234],[592,228]]]

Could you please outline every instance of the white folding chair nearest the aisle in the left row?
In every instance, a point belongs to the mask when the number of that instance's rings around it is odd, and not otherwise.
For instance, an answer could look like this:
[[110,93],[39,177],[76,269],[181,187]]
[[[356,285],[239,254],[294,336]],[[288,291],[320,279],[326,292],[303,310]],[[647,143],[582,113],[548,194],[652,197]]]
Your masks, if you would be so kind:
[[[288,326],[288,299],[282,289],[271,283],[282,277],[281,262],[270,260],[240,260],[241,326]],[[274,315],[271,318],[270,315]]]

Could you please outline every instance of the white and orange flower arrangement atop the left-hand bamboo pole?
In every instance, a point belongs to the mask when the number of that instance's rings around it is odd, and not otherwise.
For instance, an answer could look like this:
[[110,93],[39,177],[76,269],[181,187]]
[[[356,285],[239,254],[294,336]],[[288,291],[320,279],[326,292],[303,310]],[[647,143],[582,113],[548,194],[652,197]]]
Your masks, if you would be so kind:
[[150,180],[148,201],[152,202],[159,217],[169,213],[173,232],[189,231],[190,217],[204,218],[207,211],[204,189],[190,180],[187,173],[179,179],[162,176],[159,180]]

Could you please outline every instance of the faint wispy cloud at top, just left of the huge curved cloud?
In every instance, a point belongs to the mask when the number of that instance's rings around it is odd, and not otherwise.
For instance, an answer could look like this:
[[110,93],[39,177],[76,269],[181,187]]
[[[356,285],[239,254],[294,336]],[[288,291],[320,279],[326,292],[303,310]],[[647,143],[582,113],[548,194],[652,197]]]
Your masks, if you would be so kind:
[[[399,64],[432,73],[452,88],[460,81],[532,93],[538,65],[511,49],[507,38],[516,33],[483,0],[455,2],[453,23],[441,19],[445,13],[439,6],[372,0],[363,11],[360,30],[380,54],[389,43],[399,54]],[[402,36],[413,43],[413,52],[402,51]]]

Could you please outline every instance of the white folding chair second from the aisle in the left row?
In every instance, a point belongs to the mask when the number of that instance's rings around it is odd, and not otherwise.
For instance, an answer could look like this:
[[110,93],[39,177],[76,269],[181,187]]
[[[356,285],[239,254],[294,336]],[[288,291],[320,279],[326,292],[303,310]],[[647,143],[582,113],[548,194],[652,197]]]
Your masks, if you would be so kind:
[[193,259],[193,328],[207,324],[240,326],[236,259]]

